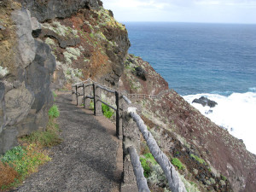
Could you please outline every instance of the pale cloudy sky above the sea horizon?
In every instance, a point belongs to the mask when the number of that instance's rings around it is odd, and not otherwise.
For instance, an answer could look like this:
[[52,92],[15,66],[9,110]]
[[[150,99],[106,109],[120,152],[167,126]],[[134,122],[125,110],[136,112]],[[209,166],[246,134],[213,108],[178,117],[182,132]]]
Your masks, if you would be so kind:
[[102,0],[119,21],[256,24],[256,0]]

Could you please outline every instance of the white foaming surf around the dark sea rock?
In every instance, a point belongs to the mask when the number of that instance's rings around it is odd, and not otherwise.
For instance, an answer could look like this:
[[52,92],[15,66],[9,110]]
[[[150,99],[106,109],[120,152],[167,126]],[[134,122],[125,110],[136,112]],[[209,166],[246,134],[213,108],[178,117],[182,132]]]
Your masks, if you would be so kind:
[[[218,102],[218,105],[215,108],[209,108],[192,103],[195,98],[201,96]],[[214,123],[230,131],[231,135],[242,139],[247,150],[256,154],[256,92],[251,90],[247,93],[233,93],[230,96],[197,94],[183,96],[183,98]]]

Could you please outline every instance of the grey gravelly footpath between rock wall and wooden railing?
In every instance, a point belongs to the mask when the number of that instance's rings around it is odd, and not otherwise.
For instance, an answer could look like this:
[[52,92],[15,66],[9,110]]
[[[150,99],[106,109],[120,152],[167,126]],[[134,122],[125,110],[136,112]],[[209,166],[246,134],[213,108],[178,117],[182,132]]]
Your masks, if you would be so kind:
[[119,191],[122,151],[115,126],[76,107],[70,98],[61,94],[55,102],[63,142],[51,149],[52,161],[17,191]]

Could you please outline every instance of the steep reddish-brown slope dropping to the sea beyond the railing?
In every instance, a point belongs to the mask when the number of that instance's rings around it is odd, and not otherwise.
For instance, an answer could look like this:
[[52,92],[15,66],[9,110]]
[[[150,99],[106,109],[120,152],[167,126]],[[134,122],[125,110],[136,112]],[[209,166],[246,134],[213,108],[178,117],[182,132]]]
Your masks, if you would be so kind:
[[[120,90],[131,94],[157,96],[169,89],[165,79],[148,62],[134,55],[126,57],[125,73],[119,84]],[[156,99],[143,96],[131,99],[139,106],[154,137],[159,138],[160,147],[186,166],[181,172],[184,177],[197,183],[202,191],[255,190],[255,155],[239,139],[190,106],[175,90],[162,93]]]

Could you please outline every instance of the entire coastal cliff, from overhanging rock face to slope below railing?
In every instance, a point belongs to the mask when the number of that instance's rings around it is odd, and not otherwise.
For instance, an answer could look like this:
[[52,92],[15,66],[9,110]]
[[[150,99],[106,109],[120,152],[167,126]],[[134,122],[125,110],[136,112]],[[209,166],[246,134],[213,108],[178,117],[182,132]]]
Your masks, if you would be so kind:
[[[100,0],[0,1],[0,154],[45,129],[51,89],[90,78],[129,94],[168,90],[132,102],[160,148],[182,162],[180,174],[201,191],[256,189],[255,155],[169,90],[148,62],[129,55],[130,45],[125,26]],[[159,179],[148,183],[165,188]]]

